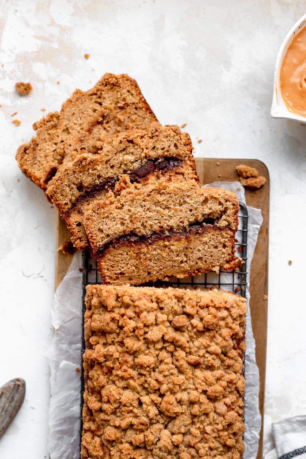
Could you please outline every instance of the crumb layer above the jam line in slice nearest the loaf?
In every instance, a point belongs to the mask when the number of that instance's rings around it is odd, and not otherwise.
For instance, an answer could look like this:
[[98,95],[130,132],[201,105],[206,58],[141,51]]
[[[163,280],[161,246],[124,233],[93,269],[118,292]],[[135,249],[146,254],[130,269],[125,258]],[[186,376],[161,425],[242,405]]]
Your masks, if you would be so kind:
[[[234,191],[201,188],[187,183],[130,187],[117,197],[95,203],[84,215],[84,227],[93,252],[123,235],[150,236],[182,231],[190,224],[214,219],[220,228],[238,229],[239,201]],[[216,221],[215,221],[216,220]]]

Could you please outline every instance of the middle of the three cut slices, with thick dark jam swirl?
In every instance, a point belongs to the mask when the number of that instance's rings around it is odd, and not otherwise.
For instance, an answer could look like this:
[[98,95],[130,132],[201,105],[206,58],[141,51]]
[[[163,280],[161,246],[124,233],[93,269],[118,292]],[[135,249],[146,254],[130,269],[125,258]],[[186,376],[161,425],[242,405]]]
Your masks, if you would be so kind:
[[[84,249],[89,246],[84,212],[95,202],[103,202],[110,190],[120,192],[116,183],[122,174],[128,174],[128,184],[163,180],[198,184],[192,150],[189,135],[178,126],[152,123],[147,132],[130,129],[115,135],[99,154],[83,154],[62,164],[46,195],[66,220],[75,246]],[[123,186],[128,184],[121,181]]]

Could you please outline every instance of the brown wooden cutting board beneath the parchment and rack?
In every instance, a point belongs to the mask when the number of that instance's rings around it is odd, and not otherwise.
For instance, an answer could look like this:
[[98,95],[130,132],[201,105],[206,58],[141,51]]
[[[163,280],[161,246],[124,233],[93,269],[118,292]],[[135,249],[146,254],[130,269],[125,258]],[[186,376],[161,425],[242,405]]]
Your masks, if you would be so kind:
[[[262,430],[263,430],[263,410],[265,395],[265,376],[266,376],[266,347],[267,347],[267,300],[264,296],[268,294],[268,242],[269,242],[269,202],[270,202],[270,182],[269,172],[265,164],[256,159],[211,159],[196,158],[197,172],[202,184],[211,183],[216,180],[234,181],[238,180],[236,166],[246,164],[259,171],[259,175],[266,177],[266,184],[255,191],[245,189],[245,199],[248,206],[261,209],[263,224],[258,235],[257,246],[254,252],[250,269],[250,312],[252,317],[253,333],[256,341],[256,361],[260,375],[260,394],[259,409],[261,412],[261,433],[257,459],[262,456]],[[219,163],[219,164],[217,164]],[[64,242],[70,240],[70,233],[66,228],[65,222],[58,214],[56,249]],[[72,261],[72,255],[64,255],[56,250],[56,287],[61,283],[64,275]]]

